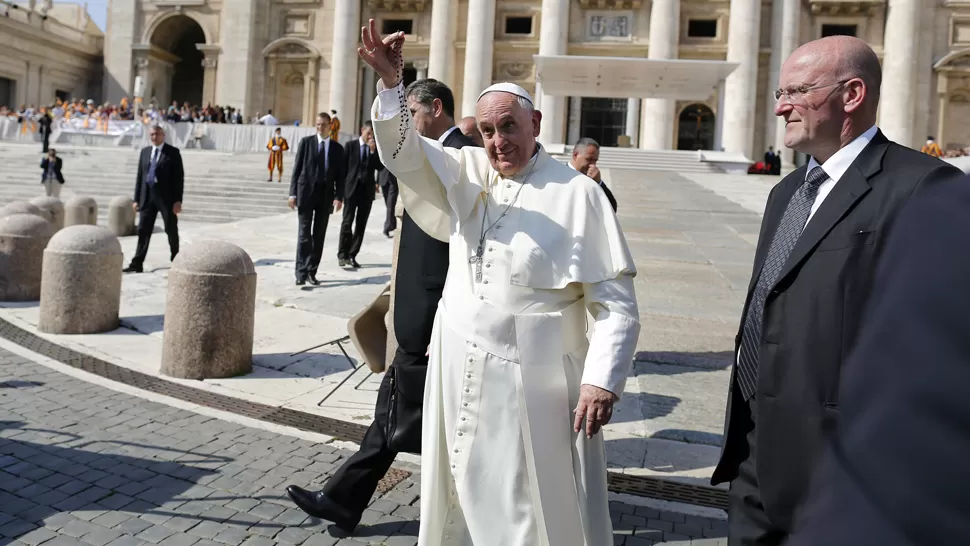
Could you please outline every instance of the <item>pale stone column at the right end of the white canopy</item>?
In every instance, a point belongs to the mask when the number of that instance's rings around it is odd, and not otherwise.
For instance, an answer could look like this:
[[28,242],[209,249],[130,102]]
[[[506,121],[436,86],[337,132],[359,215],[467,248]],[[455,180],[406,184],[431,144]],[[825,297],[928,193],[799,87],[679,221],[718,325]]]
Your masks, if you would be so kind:
[[758,93],[758,44],[761,0],[731,0],[729,62],[739,63],[724,82],[723,146],[728,152],[754,155],[755,102]]

